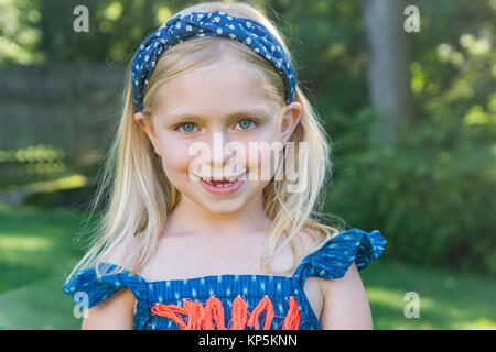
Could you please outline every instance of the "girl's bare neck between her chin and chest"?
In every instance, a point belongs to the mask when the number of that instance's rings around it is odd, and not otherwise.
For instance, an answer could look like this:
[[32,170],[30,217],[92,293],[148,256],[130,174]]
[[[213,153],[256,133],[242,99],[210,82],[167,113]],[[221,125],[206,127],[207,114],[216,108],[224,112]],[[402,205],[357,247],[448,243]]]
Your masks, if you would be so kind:
[[211,233],[218,237],[223,234],[242,234],[266,232],[270,220],[263,211],[263,195],[249,201],[246,207],[236,212],[214,213],[181,197],[173,211],[168,215],[165,232]]

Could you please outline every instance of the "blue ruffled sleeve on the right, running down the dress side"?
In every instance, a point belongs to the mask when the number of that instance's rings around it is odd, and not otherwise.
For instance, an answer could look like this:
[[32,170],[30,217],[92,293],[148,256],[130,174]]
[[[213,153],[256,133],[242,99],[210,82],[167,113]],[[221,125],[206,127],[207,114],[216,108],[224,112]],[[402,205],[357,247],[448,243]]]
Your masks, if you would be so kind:
[[328,240],[319,251],[306,256],[293,274],[296,286],[296,299],[300,302],[302,321],[300,329],[320,327],[310,302],[304,295],[306,276],[319,276],[325,279],[343,277],[353,262],[358,271],[367,267],[378,258],[387,241],[379,231],[365,232],[359,229],[342,231]]

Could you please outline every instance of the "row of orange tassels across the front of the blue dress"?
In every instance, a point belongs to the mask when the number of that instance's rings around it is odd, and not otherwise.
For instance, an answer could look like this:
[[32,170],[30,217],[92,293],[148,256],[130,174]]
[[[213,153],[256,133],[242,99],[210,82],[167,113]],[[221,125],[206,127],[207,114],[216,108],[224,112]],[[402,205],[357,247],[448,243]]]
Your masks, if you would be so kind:
[[[202,302],[194,302],[190,298],[186,298],[183,300],[183,307],[158,302],[151,308],[152,316],[172,319],[181,330],[215,330],[216,327],[217,330],[245,330],[247,324],[250,328],[255,328],[255,330],[259,330],[258,319],[263,311],[266,311],[266,319],[262,330],[270,330],[270,326],[276,316],[269,296],[265,296],[251,314],[249,314],[247,302],[238,295],[233,301],[229,329],[224,326],[223,304],[215,296],[209,297],[205,306]],[[188,317],[187,323],[180,315]],[[300,321],[301,316],[296,298],[291,296],[289,298],[289,310],[282,323],[282,330],[299,330]]]

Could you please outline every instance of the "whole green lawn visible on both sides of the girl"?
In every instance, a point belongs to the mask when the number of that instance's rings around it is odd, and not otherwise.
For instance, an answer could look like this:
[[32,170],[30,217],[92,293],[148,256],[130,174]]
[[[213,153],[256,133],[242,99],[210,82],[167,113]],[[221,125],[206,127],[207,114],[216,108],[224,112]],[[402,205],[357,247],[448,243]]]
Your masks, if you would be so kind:
[[[0,329],[79,329],[62,293],[83,213],[0,204]],[[496,279],[378,260],[360,272],[376,329],[496,329]],[[420,300],[407,318],[405,295]]]

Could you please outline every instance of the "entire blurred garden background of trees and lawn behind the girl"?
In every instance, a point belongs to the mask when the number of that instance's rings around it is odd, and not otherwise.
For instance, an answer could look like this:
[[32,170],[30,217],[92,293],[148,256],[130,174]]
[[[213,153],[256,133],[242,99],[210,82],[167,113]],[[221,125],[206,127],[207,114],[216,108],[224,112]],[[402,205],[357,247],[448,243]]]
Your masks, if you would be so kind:
[[[126,66],[196,2],[0,0],[1,328],[79,329],[61,286]],[[495,329],[496,0],[247,2],[288,38],[332,139],[325,211],[388,240],[362,272],[375,328]]]

